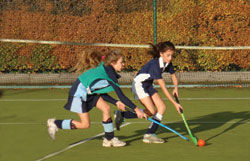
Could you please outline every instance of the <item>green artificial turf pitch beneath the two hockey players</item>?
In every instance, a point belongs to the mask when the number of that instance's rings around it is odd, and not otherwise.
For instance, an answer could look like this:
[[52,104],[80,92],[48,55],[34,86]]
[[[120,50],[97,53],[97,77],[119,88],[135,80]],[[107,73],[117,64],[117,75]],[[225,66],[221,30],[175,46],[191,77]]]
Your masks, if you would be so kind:
[[[103,132],[101,113],[93,109],[90,117],[94,123],[89,129],[61,130],[55,141],[50,140],[45,124],[48,118],[77,119],[76,114],[63,108],[67,92],[68,89],[1,90],[1,161],[34,161]],[[130,89],[124,89],[124,92],[133,98]],[[131,124],[115,131],[116,136],[128,143],[126,147],[103,148],[102,137],[97,137],[46,160],[249,160],[249,88],[193,88],[179,89],[179,93],[189,126],[198,138],[206,140],[205,147],[195,147],[191,141],[187,142],[161,127],[157,135],[167,142],[144,144],[142,137],[150,123],[131,119],[126,120]],[[166,104],[168,109],[163,123],[189,137],[181,116],[172,104],[168,101]]]

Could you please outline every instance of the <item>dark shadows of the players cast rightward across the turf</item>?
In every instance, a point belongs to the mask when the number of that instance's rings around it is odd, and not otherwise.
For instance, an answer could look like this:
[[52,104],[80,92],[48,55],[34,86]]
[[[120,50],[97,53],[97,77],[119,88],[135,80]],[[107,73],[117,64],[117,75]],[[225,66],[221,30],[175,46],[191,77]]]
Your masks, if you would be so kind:
[[[212,129],[216,129],[219,127],[222,127],[224,124],[237,120],[236,122],[231,123],[231,126],[224,129],[223,131],[205,139],[204,139],[207,143],[206,145],[209,145],[211,143],[209,143],[208,141],[212,140],[215,137],[218,137],[240,125],[242,125],[242,123],[249,121],[250,120],[250,111],[243,111],[243,112],[231,112],[231,111],[226,111],[226,112],[219,112],[219,113],[213,113],[213,114],[209,114],[209,115],[205,115],[205,116],[201,116],[195,119],[191,119],[191,120],[187,120],[188,124],[191,128],[191,131],[193,134],[196,135],[197,138],[199,138],[199,136],[197,136],[199,134],[199,132],[202,131],[208,131],[208,130],[212,130]],[[186,127],[184,125],[184,123],[182,121],[179,122],[175,122],[175,123],[166,123],[165,125],[167,125],[168,127],[178,131],[179,133],[181,133],[182,135],[188,136],[188,133],[186,131]],[[137,140],[142,140],[143,135],[145,134],[146,130],[148,128],[148,125],[145,126],[145,129],[143,130],[136,130],[134,135],[130,135],[130,136],[119,136],[119,139],[128,139],[127,143],[131,143],[133,141],[137,141]],[[122,130],[122,129],[121,129]],[[162,133],[172,133],[170,131],[168,131],[165,128],[160,127],[157,131],[157,134],[162,134]],[[171,139],[171,138],[176,138],[179,137],[177,135],[174,136],[170,136],[170,137],[165,137],[163,139],[167,140],[167,139]]]

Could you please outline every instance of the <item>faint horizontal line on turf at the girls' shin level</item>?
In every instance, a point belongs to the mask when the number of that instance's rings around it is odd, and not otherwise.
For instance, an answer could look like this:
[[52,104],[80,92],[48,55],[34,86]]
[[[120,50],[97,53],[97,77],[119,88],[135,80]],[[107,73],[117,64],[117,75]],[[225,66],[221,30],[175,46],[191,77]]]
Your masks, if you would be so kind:
[[[137,122],[126,122],[129,124],[149,124],[150,122],[147,121],[137,121]],[[181,121],[163,121],[161,122],[163,124],[183,124]],[[249,124],[250,121],[202,121],[202,122],[196,122],[196,121],[189,121],[189,124]],[[46,123],[28,123],[28,122],[0,122],[0,125],[45,125]],[[101,124],[101,122],[91,122],[91,124]]]

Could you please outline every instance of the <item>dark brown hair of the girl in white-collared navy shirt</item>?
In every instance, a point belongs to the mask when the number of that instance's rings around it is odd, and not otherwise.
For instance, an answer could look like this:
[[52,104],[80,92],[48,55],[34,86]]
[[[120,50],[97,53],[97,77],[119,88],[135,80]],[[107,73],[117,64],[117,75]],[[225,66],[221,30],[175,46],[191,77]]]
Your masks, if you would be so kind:
[[160,53],[165,52],[167,50],[173,50],[175,51],[175,46],[170,41],[160,42],[156,45],[149,44],[151,46],[151,50],[148,51],[149,55],[152,55],[153,58],[159,58]]

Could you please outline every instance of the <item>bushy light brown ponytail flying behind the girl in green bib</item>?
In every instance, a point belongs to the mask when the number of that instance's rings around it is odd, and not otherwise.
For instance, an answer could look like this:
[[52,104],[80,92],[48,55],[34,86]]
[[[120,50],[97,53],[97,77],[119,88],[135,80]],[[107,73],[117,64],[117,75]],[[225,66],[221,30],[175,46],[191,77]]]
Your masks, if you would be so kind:
[[73,66],[71,71],[79,73],[90,68],[95,68],[101,63],[102,56],[103,55],[96,50],[86,49],[77,54],[77,63]]

